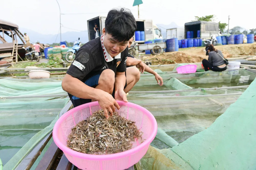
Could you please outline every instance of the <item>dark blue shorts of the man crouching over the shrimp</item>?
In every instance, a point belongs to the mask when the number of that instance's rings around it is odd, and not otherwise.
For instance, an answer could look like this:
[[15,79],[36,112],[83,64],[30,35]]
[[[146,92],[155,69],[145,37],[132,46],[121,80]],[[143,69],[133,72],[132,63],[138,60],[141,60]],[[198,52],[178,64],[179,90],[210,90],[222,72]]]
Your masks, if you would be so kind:
[[[103,72],[104,70],[100,70],[99,72],[96,72],[93,76],[91,76],[89,79],[87,79],[84,84],[86,84],[87,86],[90,86],[90,87],[93,87],[95,88],[96,86],[99,85],[99,78],[100,78],[100,75],[101,73]],[[125,72],[125,76],[126,76],[126,72]],[[125,86],[124,88],[126,88],[127,86],[127,82],[125,81]],[[115,96],[115,90],[113,90],[113,94],[112,96],[114,97]],[[70,98],[71,102],[73,103],[73,106],[74,107],[77,107],[77,106],[80,106],[82,104],[85,104],[85,103],[89,103],[91,102],[92,100],[91,99],[81,99],[81,98],[78,98],[78,97],[75,97],[75,96],[72,96]]]

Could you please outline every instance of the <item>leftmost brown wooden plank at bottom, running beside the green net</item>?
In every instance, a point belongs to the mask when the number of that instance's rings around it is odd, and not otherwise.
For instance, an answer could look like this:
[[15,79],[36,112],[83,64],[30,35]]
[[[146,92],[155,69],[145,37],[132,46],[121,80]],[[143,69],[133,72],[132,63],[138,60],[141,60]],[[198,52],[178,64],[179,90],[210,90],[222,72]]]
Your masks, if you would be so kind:
[[52,137],[52,132],[50,132],[44,139],[42,139],[33,150],[27,154],[27,156],[19,163],[19,165],[15,168],[15,170],[20,169],[30,169],[35,163],[38,156],[41,154],[41,151],[45,148],[46,144]]

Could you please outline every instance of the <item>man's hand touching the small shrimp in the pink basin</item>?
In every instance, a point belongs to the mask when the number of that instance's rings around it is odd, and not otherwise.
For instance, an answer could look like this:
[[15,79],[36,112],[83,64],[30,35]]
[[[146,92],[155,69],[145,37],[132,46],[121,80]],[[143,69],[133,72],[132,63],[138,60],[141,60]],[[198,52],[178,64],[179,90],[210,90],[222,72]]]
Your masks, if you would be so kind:
[[[125,94],[126,95],[126,94]],[[108,111],[110,112],[110,116],[113,115],[115,111],[115,107],[120,109],[119,104],[115,101],[113,96],[103,90],[101,90],[100,99],[98,100],[100,107],[104,110],[104,114],[106,118],[109,118]]]

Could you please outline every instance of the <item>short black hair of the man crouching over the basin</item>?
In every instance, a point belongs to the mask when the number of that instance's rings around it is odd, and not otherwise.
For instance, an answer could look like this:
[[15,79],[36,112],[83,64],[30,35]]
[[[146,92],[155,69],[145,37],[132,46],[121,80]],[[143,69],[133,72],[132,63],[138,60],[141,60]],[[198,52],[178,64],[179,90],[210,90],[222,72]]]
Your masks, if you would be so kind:
[[136,29],[136,20],[129,9],[115,8],[109,11],[105,20],[105,30],[116,41],[129,41]]

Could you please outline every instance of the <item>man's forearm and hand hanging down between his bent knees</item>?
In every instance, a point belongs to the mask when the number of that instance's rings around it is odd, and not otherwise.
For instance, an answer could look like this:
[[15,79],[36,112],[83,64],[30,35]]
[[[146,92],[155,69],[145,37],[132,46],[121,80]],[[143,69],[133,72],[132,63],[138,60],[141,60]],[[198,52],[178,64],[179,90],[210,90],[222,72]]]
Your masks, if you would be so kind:
[[115,100],[127,101],[126,93],[124,92],[124,86],[126,82],[125,72],[116,72],[115,74]]

